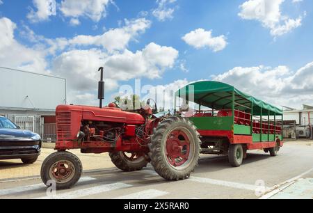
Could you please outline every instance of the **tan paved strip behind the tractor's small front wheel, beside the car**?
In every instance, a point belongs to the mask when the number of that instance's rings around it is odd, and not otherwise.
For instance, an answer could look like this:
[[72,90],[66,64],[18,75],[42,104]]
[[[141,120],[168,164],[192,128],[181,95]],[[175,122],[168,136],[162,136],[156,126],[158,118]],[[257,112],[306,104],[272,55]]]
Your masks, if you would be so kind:
[[[42,162],[51,153],[56,152],[51,148],[42,148],[42,152],[38,161],[35,164],[22,164],[20,159],[13,160],[0,160],[0,180],[6,180],[10,178],[31,178],[33,176],[40,175],[40,168]],[[112,164],[108,153],[104,154],[81,154],[80,150],[71,150],[74,155],[77,155],[81,159],[83,164],[83,171],[115,168]]]

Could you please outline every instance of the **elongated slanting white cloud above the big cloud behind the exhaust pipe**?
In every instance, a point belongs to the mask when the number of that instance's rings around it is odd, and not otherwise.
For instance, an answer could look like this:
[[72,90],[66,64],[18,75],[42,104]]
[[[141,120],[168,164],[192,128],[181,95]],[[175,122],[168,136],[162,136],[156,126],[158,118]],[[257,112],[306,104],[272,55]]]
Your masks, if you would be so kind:
[[96,45],[102,46],[109,52],[123,50],[131,40],[134,40],[139,33],[144,33],[151,25],[145,18],[127,20],[125,26],[110,29],[101,36],[76,36],[69,41],[70,45]]

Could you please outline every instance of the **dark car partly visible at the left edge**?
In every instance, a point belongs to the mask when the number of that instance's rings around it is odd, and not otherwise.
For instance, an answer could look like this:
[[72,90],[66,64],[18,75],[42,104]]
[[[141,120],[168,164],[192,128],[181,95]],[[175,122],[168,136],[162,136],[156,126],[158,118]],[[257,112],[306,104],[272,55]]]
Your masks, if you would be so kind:
[[0,116],[0,159],[21,159],[24,164],[33,164],[40,150],[38,134],[20,129],[8,118]]

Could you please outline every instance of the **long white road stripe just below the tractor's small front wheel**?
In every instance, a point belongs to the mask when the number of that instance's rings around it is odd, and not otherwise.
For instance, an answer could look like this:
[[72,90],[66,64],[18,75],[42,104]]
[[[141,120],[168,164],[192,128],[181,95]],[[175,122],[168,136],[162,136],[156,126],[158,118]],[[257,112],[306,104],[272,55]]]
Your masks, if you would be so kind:
[[77,199],[77,198],[92,196],[95,194],[100,194],[100,193],[107,192],[107,191],[113,191],[116,189],[123,189],[127,187],[132,187],[132,185],[125,184],[122,182],[116,182],[113,184],[104,184],[104,185],[100,185],[97,187],[90,187],[86,189],[69,191],[63,194],[56,194],[56,196],[54,197],[45,196],[45,197],[35,198],[35,199]]

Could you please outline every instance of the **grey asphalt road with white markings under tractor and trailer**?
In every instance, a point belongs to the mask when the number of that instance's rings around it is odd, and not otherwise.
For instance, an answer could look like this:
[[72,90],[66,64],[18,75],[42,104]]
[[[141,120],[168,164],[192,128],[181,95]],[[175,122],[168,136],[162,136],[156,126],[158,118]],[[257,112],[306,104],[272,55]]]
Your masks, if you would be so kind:
[[[262,150],[248,153],[239,168],[232,168],[224,156],[202,156],[188,180],[168,182],[151,166],[124,173],[116,168],[85,171],[72,189],[56,191],[54,198],[275,198],[297,190],[313,198],[313,143],[285,143],[277,157]],[[296,187],[299,180],[307,185]],[[310,181],[311,182],[310,182]],[[290,192],[291,191],[291,192]],[[51,198],[40,178],[0,180],[0,198]]]

